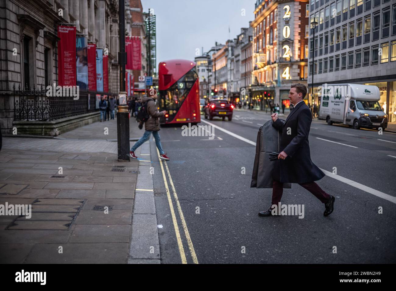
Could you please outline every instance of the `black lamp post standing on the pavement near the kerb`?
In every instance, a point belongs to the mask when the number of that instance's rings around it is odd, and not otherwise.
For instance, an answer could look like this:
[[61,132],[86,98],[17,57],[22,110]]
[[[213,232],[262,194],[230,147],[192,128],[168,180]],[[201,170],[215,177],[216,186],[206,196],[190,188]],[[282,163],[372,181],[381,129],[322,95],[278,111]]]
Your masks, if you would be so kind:
[[130,161],[129,157],[129,111],[126,106],[125,91],[125,0],[118,0],[119,19],[118,30],[120,35],[120,52],[118,53],[118,62],[120,64],[120,91],[118,92],[118,112],[117,112],[117,145],[118,160]]

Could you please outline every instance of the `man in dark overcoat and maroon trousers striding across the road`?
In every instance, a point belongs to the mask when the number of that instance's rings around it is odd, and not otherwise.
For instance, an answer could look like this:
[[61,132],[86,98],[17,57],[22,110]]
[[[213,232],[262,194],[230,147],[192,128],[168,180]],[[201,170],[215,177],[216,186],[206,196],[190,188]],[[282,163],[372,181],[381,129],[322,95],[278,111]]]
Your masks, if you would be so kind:
[[286,121],[278,119],[278,114],[271,114],[272,126],[281,133],[280,154],[272,171],[272,206],[259,212],[259,216],[272,215],[272,207],[278,206],[283,194],[283,183],[297,183],[314,194],[325,204],[324,216],[330,215],[334,209],[335,197],[327,194],[314,181],[322,179],[325,174],[312,163],[308,142],[312,122],[311,110],[303,101],[307,95],[307,87],[296,83],[289,91],[293,111]]

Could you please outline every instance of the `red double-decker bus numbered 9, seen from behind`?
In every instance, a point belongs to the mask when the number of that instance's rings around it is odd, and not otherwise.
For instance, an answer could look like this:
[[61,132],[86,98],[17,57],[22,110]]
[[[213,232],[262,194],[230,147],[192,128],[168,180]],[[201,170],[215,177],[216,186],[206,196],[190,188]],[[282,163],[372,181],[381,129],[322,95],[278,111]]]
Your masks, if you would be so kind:
[[161,62],[158,68],[158,107],[167,114],[160,124],[201,122],[199,78],[196,63],[187,60]]

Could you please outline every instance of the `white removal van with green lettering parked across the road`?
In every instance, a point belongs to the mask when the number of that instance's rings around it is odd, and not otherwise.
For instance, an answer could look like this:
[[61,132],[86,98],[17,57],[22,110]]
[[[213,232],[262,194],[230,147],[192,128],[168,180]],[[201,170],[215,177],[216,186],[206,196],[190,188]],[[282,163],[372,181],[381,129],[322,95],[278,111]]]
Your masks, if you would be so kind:
[[362,84],[323,84],[318,87],[321,97],[319,119],[327,124],[342,123],[355,129],[388,126],[388,116],[379,105],[377,86]]

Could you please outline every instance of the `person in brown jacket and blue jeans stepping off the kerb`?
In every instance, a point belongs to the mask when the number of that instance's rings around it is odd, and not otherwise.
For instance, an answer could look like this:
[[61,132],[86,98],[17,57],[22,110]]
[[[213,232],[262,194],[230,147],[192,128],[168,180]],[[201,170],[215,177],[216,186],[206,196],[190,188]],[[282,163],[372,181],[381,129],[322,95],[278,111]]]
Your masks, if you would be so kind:
[[[157,91],[155,89],[150,89],[148,96],[143,99],[143,104],[147,102],[147,114],[150,116],[148,119],[144,122],[145,124],[145,133],[143,134],[143,137],[139,139],[131,148],[130,155],[131,158],[137,159],[137,156],[135,156],[135,150],[143,145],[148,139],[150,138],[150,135],[152,134],[155,139],[155,144],[160,151],[160,159],[161,160],[169,160],[169,158],[166,156],[164,150],[162,149],[161,145],[161,137],[160,137],[160,117],[164,116],[166,114],[166,111],[157,111],[157,105],[155,103],[155,100],[157,98]],[[143,128],[143,122],[139,122],[139,129]]]

